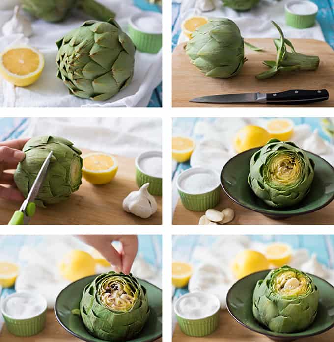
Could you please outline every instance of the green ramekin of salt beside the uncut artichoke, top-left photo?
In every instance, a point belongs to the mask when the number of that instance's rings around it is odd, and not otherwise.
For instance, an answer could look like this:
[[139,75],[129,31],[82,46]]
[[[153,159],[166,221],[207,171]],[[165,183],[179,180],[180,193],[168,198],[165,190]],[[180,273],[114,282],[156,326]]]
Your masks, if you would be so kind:
[[136,48],[145,53],[158,53],[163,46],[163,34],[160,32],[145,32],[136,26],[136,20],[140,18],[157,18],[162,22],[162,15],[157,12],[144,12],[135,14],[129,21],[129,36]]

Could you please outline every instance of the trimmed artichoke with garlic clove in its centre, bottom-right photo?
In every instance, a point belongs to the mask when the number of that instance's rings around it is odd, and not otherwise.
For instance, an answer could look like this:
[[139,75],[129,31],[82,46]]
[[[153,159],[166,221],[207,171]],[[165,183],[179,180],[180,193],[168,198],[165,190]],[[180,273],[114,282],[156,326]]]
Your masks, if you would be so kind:
[[259,280],[253,293],[253,315],[277,333],[294,333],[310,326],[319,304],[313,279],[290,266],[272,270]]

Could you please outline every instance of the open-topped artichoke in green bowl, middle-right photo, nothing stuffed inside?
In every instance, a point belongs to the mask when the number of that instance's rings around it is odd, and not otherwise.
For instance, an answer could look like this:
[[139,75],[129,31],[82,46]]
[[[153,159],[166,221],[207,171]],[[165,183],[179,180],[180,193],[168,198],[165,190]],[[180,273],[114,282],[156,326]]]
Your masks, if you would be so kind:
[[275,208],[291,207],[308,194],[314,161],[293,142],[271,139],[251,157],[248,183],[255,195]]

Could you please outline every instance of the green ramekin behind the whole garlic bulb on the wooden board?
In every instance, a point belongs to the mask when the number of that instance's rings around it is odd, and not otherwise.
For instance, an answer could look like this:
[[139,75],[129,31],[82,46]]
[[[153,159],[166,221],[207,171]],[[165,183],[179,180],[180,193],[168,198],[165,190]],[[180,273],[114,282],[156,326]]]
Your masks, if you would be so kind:
[[148,174],[148,172],[144,172],[140,167],[140,161],[144,158],[149,157],[161,157],[163,154],[161,151],[149,151],[144,152],[136,158],[136,182],[139,188],[146,183],[149,183],[148,192],[153,196],[162,196],[163,195],[163,179],[162,177],[154,177]]

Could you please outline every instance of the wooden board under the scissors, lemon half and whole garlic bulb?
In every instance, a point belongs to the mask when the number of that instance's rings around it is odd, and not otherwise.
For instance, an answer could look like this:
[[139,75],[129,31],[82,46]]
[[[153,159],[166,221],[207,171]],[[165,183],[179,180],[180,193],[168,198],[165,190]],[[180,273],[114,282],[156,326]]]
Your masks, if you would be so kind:
[[[83,154],[91,151],[83,150]],[[155,197],[158,211],[144,220],[127,213],[122,208],[124,198],[134,190],[136,184],[135,159],[115,156],[118,160],[118,171],[115,178],[105,185],[93,185],[85,181],[70,199],[47,208],[37,208],[30,224],[162,224],[162,197]],[[7,224],[21,203],[0,199],[0,224]]]

